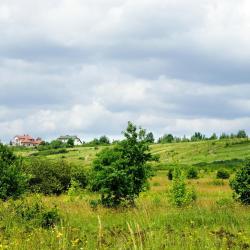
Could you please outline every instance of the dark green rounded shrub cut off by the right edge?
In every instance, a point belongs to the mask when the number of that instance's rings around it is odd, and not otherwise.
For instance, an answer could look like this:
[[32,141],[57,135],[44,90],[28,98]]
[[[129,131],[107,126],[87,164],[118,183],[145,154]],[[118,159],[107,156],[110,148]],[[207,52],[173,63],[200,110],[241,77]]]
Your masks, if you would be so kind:
[[230,186],[234,190],[236,199],[243,204],[250,204],[250,161],[236,172]]

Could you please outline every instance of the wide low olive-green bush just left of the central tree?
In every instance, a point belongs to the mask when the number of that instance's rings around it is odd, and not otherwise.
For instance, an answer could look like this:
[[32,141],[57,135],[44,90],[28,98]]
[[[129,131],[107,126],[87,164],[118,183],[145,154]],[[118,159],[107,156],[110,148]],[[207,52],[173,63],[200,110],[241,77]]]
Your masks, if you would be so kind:
[[79,181],[82,187],[86,185],[84,170],[65,161],[32,160],[25,171],[30,175],[32,192],[59,195],[69,188],[71,179]]

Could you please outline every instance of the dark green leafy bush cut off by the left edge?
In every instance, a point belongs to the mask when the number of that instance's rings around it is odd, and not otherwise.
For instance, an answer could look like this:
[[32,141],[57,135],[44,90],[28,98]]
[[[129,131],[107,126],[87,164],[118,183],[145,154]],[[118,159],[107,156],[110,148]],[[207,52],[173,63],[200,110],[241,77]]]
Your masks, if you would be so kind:
[[18,198],[26,191],[27,181],[22,172],[22,159],[0,144],[0,199]]

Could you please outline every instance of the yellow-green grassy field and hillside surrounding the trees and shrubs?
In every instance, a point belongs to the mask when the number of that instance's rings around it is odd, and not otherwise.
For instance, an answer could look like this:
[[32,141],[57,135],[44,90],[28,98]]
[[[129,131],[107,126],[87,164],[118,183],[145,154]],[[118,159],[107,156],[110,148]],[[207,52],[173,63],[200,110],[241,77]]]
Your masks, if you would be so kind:
[[[99,148],[76,147],[68,153],[49,155],[90,167]],[[19,221],[1,206],[0,249],[250,249],[250,207],[232,198],[228,180],[217,181],[215,170],[230,171],[250,157],[250,141],[225,140],[153,145],[160,155],[150,190],[136,200],[135,208],[91,207],[96,195],[81,191],[74,195],[42,196],[56,206],[61,221],[54,228],[35,227]],[[31,150],[19,151],[26,159]],[[45,157],[45,156],[43,156]],[[197,191],[197,201],[176,208],[169,203],[166,178],[169,166],[197,166],[200,178],[188,180]],[[28,197],[26,199],[35,199]]]

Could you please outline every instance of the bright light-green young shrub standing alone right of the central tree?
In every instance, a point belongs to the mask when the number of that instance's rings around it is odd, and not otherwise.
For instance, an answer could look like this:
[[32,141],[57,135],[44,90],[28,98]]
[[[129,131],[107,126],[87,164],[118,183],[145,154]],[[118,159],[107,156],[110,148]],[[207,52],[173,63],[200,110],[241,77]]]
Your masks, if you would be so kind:
[[180,170],[174,171],[172,187],[169,190],[170,202],[177,206],[186,206],[196,200],[194,189],[188,189],[185,183],[184,175]]

